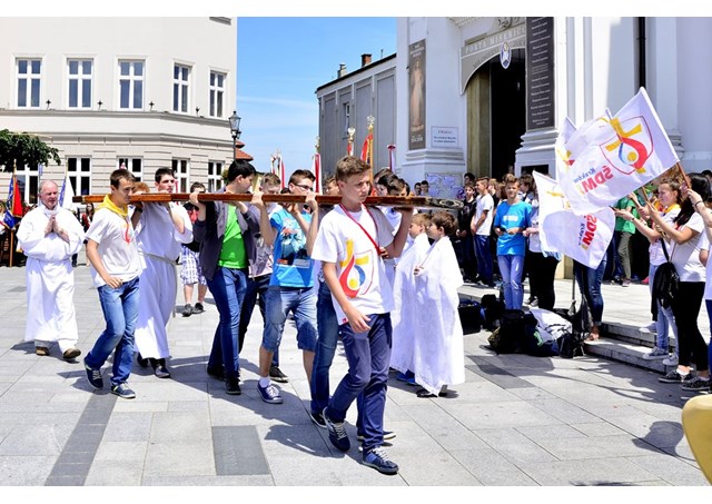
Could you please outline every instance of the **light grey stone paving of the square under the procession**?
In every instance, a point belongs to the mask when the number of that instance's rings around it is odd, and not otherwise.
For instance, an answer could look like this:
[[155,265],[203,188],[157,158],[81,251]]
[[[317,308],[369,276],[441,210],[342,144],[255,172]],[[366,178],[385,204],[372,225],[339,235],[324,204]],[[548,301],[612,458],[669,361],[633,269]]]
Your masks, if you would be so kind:
[[[86,354],[103,328],[96,289],[76,269]],[[571,281],[557,280],[557,306]],[[463,295],[486,289],[465,286]],[[622,333],[646,325],[647,287],[604,286],[604,322]],[[171,319],[170,379],[135,366],[137,398],[95,392],[80,359],[53,346],[38,357],[23,342],[24,269],[0,268],[0,485],[31,486],[685,486],[704,488],[680,424],[678,386],[659,372],[587,354],[575,359],[495,355],[487,332],[465,336],[466,383],[445,398],[417,398],[390,379],[388,453],[400,466],[384,476],[363,466],[356,409],[347,416],[354,447],[336,451],[309,419],[308,382],[288,324],[281,345],[283,405],[257,391],[261,319],[256,310],[241,355],[243,395],[205,373],[218,315]],[[176,302],[182,305],[182,298]],[[700,316],[709,333],[706,314]],[[627,329],[626,329],[627,328]],[[610,343],[610,342],[607,342]],[[107,366],[108,367],[108,366]],[[335,387],[347,364],[337,349]],[[110,369],[105,369],[109,375]],[[239,495],[239,494],[236,494]]]

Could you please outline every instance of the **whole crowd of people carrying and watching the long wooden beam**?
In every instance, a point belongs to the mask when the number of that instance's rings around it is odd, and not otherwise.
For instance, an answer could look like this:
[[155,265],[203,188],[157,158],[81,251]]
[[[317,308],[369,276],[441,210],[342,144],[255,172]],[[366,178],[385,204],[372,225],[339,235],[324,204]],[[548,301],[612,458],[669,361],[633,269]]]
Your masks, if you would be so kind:
[[[137,190],[134,176],[118,169],[110,175],[110,192],[102,204],[88,208],[81,221],[57,205],[57,185],[42,181],[40,204],[18,230],[28,256],[28,306],[33,307],[28,310],[26,339],[34,342],[36,353],[49,355],[57,342],[65,359],[81,354],[71,258],[86,244],[106,318],[106,329],[83,359],[89,383],[103,388],[101,367],[112,354],[110,389],[121,398],[136,397],[128,384],[135,359],[139,366],[150,365],[157,377],[169,378],[167,327],[180,265],[182,316],[202,313],[208,291],[215,300],[219,322],[206,372],[225,383],[227,394],[241,394],[241,350],[259,306],[264,327],[254,357],[259,369],[256,388],[265,403],[284,403],[275,383],[288,382],[279,368],[279,347],[291,318],[309,383],[313,422],[346,452],[350,439],[344,422],[356,403],[363,463],[396,474],[398,466],[384,449],[395,437],[384,426],[389,372],[415,385],[417,397],[447,396],[448,386],[465,382],[457,289],[465,281],[487,287],[498,283],[507,309],[525,304],[554,308],[554,275],[562,257],[542,246],[538,195],[531,175],[508,174],[496,181],[466,174],[459,211],[364,206],[372,194],[406,196],[417,190],[424,196],[429,188],[423,180],[412,191],[390,170],[373,175],[366,162],[352,156],[342,158],[335,176],[325,181],[325,194],[340,196],[333,207],[318,202],[309,170],[296,170],[285,181],[284,191],[304,196],[304,204],[266,202],[265,195],[283,191],[281,180],[274,174],[258,177],[248,161],[235,160],[226,175],[219,190],[226,195],[222,200],[201,199],[206,189],[196,182],[189,201],[179,205],[132,201],[136,194],[151,189],[144,185]],[[657,333],[656,348],[647,357],[674,360],[675,369],[662,381],[709,391],[710,357],[696,316],[703,298],[712,313],[704,266],[712,229],[710,178],[690,174],[684,182],[656,182],[650,198],[633,196],[615,206],[621,227],[616,225],[620,234],[612,247],[620,267],[613,275],[621,276],[622,286],[631,280],[625,244],[640,233],[650,241],[651,315]],[[154,184],[157,192],[172,192],[172,170],[157,170]],[[237,200],[227,197],[231,194],[249,196]],[[653,291],[655,273],[666,260],[680,274],[678,299],[684,303],[663,303]],[[591,339],[600,336],[601,284],[607,266],[606,258],[596,268],[574,265],[591,309]],[[669,330],[678,339],[674,355]],[[334,388],[329,370],[339,339],[348,373]]]

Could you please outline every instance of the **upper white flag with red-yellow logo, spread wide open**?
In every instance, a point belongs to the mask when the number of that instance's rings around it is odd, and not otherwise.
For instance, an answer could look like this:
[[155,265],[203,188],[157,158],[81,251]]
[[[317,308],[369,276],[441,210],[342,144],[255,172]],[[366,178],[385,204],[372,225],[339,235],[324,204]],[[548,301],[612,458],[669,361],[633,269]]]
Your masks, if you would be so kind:
[[573,155],[560,180],[577,215],[615,205],[679,160],[644,88],[615,116],[595,125],[587,137],[594,141]]

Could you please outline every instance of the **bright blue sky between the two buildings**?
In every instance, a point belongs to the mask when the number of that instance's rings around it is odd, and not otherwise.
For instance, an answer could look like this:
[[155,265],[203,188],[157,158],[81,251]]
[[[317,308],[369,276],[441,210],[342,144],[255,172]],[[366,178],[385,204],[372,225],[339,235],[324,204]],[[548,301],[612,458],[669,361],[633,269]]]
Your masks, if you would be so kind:
[[360,68],[396,52],[396,18],[238,18],[237,115],[244,151],[269,171],[279,149],[287,175],[310,169],[319,134],[316,89],[339,63]]

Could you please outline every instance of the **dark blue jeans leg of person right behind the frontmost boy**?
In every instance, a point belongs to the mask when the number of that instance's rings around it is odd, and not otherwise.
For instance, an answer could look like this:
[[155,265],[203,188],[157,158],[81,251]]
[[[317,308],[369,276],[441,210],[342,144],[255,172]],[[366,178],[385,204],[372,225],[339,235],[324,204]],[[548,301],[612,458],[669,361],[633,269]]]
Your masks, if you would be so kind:
[[312,412],[322,413],[329,403],[329,368],[334,362],[338,342],[338,320],[332,302],[332,290],[326,281],[319,283],[316,327],[319,337],[316,340],[312,368]]

